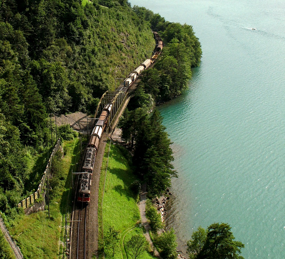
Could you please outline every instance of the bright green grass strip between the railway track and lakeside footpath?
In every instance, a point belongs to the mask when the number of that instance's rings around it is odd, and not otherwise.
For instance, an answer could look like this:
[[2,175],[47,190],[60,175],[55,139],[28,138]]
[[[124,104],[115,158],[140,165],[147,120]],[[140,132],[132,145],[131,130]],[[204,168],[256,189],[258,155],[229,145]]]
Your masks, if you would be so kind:
[[[119,145],[110,146],[109,161],[107,175],[105,181],[105,173],[107,167],[107,159],[109,153],[109,144],[106,145],[105,154],[102,163],[101,177],[99,184],[99,205],[98,205],[98,222],[99,222],[99,249],[103,251],[102,237],[102,217],[103,232],[107,233],[109,227],[114,227],[120,231],[119,246],[115,250],[114,258],[127,259],[130,258],[124,244],[132,235],[143,233],[143,229],[139,228],[140,212],[137,205],[138,197],[133,194],[129,186],[134,180],[129,154]],[[101,201],[104,190],[103,211],[101,209]],[[102,214],[103,212],[103,214]],[[109,251],[110,252],[110,251]],[[113,258],[112,254],[105,250],[105,258]],[[102,255],[101,255],[102,258]],[[153,258],[148,252],[144,252],[144,259]]]

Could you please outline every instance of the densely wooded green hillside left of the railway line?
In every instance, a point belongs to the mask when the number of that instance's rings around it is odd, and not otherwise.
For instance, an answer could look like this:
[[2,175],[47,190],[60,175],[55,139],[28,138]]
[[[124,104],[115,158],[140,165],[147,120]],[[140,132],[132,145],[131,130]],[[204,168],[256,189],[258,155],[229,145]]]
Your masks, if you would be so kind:
[[9,221],[34,191],[36,155],[50,145],[48,114],[93,113],[114,78],[133,71],[155,41],[127,1],[0,6],[0,210]]

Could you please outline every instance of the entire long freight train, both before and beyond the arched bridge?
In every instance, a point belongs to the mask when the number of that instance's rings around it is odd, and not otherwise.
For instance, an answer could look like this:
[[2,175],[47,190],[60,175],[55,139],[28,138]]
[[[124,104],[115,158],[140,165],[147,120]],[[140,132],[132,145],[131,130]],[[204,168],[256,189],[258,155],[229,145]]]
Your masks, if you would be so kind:
[[[150,59],[146,59],[139,67],[137,67],[133,73],[125,79],[123,86],[120,87],[119,91],[126,92],[129,87],[138,79],[142,71],[147,69],[158,57],[160,54],[163,43],[157,32],[153,32],[154,38],[156,40],[156,52]],[[107,124],[107,120],[112,108],[112,101],[109,104],[106,104],[97,120],[95,127],[92,130],[90,141],[87,145],[86,155],[84,159],[84,164],[82,167],[82,176],[80,179],[80,188],[78,190],[77,200],[78,202],[90,202],[90,189],[92,183],[92,173],[95,165],[96,152],[99,146],[99,140]]]

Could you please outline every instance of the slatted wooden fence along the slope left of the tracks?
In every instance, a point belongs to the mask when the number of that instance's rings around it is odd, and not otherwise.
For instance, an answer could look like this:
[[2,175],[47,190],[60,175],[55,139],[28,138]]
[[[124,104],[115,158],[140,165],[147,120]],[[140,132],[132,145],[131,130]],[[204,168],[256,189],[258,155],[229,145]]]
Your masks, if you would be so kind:
[[42,176],[42,180],[40,181],[38,190],[34,194],[31,194],[29,197],[27,197],[25,200],[22,200],[20,203],[18,203],[19,208],[23,207],[23,209],[26,209],[30,204],[33,204],[38,198],[40,198],[40,194],[42,193],[44,187],[46,186],[46,180],[48,179],[48,176],[50,176],[52,157],[58,151],[59,147],[60,147],[60,138],[56,142],[56,145],[52,151],[50,159],[48,160],[48,164],[46,166],[46,170],[44,170],[44,175]]

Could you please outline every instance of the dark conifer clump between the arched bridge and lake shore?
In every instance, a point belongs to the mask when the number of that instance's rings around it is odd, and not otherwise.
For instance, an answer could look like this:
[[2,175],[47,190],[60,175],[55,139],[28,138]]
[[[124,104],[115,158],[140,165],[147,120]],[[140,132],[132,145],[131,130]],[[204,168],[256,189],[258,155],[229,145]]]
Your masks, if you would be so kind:
[[171,141],[159,111],[155,109],[151,115],[143,108],[126,112],[122,128],[122,137],[134,148],[136,174],[146,181],[150,196],[162,193],[176,172],[171,164]]

